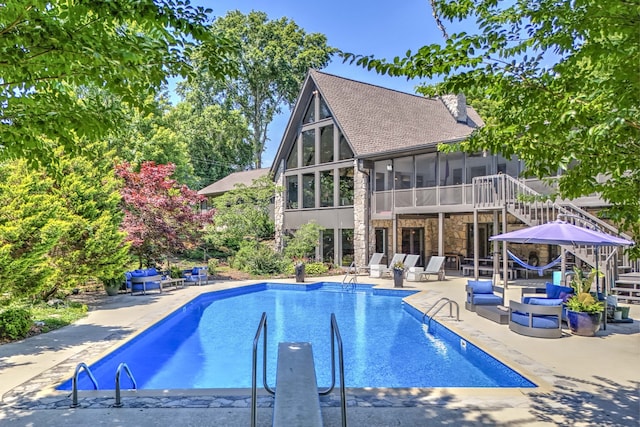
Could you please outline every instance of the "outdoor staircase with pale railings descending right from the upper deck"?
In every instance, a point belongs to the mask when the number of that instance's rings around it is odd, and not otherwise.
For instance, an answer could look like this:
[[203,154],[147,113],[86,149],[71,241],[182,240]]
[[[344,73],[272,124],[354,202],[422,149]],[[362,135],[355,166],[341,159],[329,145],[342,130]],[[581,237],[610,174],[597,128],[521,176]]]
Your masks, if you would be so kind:
[[[630,239],[629,236],[619,233],[615,227],[578,206],[551,200],[509,175],[473,178],[473,204],[474,208],[479,210],[506,208],[508,213],[529,226],[561,218],[575,225]],[[619,265],[631,266],[628,255],[615,247],[602,246],[597,253],[593,246],[563,245],[562,248],[592,267],[596,266],[597,258],[598,267],[605,274],[606,283],[609,284],[615,283]]]

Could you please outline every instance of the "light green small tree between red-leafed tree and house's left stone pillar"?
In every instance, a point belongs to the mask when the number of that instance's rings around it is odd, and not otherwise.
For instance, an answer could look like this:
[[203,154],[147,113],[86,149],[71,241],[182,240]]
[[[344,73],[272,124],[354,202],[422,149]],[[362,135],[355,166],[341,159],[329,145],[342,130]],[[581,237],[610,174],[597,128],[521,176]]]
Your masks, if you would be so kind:
[[276,186],[269,177],[236,188],[213,200],[215,215],[205,239],[217,250],[237,251],[245,241],[272,239],[274,224],[269,207]]

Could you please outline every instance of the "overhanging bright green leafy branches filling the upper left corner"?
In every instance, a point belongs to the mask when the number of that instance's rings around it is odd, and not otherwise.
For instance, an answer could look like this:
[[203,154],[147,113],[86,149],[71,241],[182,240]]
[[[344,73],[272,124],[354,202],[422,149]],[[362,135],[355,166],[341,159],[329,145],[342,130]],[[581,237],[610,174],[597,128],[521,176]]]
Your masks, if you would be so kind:
[[142,105],[168,75],[188,75],[207,42],[208,73],[233,70],[232,46],[208,31],[187,0],[12,0],[0,6],[0,140],[3,158],[53,164],[58,146],[82,151],[121,115],[98,87]]

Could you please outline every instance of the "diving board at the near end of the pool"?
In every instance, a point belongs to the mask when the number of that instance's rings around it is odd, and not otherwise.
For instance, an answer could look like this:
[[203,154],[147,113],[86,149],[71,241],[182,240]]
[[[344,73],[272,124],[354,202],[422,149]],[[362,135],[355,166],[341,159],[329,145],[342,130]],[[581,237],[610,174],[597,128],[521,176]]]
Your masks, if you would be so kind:
[[311,343],[278,344],[273,426],[322,426]]

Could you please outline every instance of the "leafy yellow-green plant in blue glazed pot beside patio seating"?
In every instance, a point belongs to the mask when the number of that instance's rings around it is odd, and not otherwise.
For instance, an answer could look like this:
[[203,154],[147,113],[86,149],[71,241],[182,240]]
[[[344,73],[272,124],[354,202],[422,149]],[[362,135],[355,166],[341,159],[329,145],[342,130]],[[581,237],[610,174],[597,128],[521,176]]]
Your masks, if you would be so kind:
[[566,302],[567,323],[572,334],[592,337],[600,330],[604,304],[591,294],[591,284],[596,270],[584,277],[582,269],[574,267],[575,275],[571,280],[574,295]]

